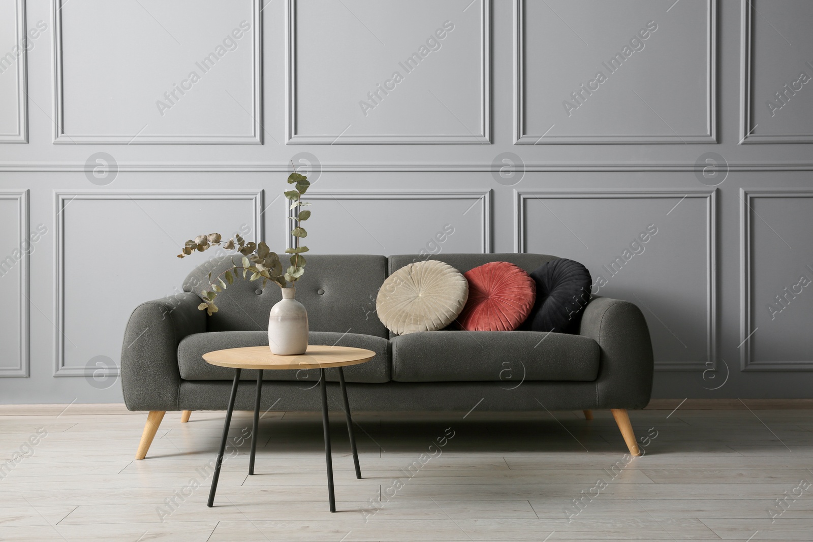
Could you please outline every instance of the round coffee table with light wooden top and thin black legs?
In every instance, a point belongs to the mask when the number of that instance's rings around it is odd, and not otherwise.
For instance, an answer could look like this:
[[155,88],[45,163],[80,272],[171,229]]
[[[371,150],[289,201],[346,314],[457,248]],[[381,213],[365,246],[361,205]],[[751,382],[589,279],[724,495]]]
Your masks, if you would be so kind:
[[217,480],[220,477],[220,465],[223,463],[223,454],[226,450],[226,440],[228,439],[228,426],[232,422],[232,412],[234,410],[234,399],[237,397],[237,385],[240,384],[240,372],[242,369],[256,369],[257,373],[257,393],[254,396],[254,431],[251,432],[251,456],[249,459],[249,475],[254,474],[254,452],[257,449],[257,431],[259,426],[259,399],[263,390],[263,371],[265,370],[291,370],[291,369],[319,369],[320,388],[322,392],[322,426],[324,428],[324,456],[328,466],[328,498],[330,500],[330,511],[336,511],[336,497],[333,494],[333,461],[330,454],[330,427],[328,420],[328,388],[324,382],[324,370],[336,367],[339,370],[339,385],[341,395],[345,401],[345,417],[347,419],[347,432],[350,436],[350,449],[353,450],[353,462],[356,470],[356,478],[361,479],[361,467],[359,466],[359,453],[356,451],[355,437],[353,435],[353,418],[350,416],[350,402],[347,401],[347,388],[345,386],[345,375],[341,367],[348,365],[358,365],[368,362],[376,355],[372,350],[362,348],[352,348],[350,346],[319,346],[308,345],[307,351],[293,356],[280,356],[271,352],[267,346],[249,346],[245,348],[232,348],[225,350],[215,350],[203,354],[203,359],[211,365],[221,367],[232,367],[234,369],[234,383],[232,384],[232,394],[228,397],[228,410],[226,411],[226,421],[223,427],[223,440],[220,441],[220,452],[217,454],[215,463],[215,474],[211,480],[211,490],[209,491],[208,506],[215,502],[215,491],[217,490]]

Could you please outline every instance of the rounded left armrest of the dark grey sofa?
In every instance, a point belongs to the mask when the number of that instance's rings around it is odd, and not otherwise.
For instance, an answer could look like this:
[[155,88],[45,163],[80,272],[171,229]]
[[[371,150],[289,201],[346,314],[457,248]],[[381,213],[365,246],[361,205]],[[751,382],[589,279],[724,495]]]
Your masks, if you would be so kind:
[[178,343],[206,332],[206,311],[191,292],[147,301],[130,315],[121,347],[121,384],[129,410],[178,410]]

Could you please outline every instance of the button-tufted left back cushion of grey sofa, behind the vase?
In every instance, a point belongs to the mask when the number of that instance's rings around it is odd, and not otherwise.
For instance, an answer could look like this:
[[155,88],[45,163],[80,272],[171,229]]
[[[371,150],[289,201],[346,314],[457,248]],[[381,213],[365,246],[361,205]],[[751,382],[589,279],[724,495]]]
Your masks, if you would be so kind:
[[[384,256],[368,254],[306,254],[305,275],[296,283],[296,299],[307,309],[311,332],[350,332],[389,337],[376,316],[376,295],[387,276]],[[184,281],[186,292],[208,289],[212,277],[240,262],[241,255],[214,258],[196,267]],[[240,265],[238,263],[238,265]],[[219,311],[208,318],[207,331],[267,331],[268,313],[282,299],[280,288],[262,280],[234,280],[215,303]]]

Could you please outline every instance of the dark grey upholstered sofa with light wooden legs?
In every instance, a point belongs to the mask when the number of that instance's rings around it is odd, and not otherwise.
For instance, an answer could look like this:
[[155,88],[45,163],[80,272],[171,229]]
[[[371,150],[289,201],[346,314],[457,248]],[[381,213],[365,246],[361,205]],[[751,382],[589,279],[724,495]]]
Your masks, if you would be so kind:
[[[386,410],[611,409],[630,453],[638,454],[627,409],[650,401],[653,358],[649,330],[637,306],[593,297],[579,335],[544,332],[420,332],[391,336],[376,317],[376,294],[389,273],[424,256],[311,255],[297,283],[307,308],[311,345],[346,345],[376,352],[372,361],[345,368],[350,405]],[[526,271],[556,259],[544,254],[440,254],[465,272],[486,262],[513,262]],[[198,294],[231,259],[210,260],[189,274],[184,293],[147,301],[133,311],[121,355],[129,410],[149,410],[137,458],[146,456],[163,413],[225,410],[233,370],[211,366],[202,354],[267,345],[271,307],[279,288],[235,280],[218,295],[220,311],[198,310]],[[328,382],[337,376],[327,371]],[[255,371],[241,379],[256,380]],[[318,371],[265,371],[267,409],[320,411]],[[254,385],[241,386],[237,410],[254,409]],[[337,384],[328,384],[336,386]],[[482,399],[482,401],[480,401]],[[479,404],[478,404],[478,401]]]

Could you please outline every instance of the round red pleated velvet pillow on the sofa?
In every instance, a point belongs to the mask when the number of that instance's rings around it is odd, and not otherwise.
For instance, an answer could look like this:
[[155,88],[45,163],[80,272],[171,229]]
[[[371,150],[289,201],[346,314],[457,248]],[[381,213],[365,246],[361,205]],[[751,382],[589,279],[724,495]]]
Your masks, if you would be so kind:
[[468,300],[458,322],[469,332],[510,332],[528,318],[537,283],[511,262],[489,262],[463,273]]

